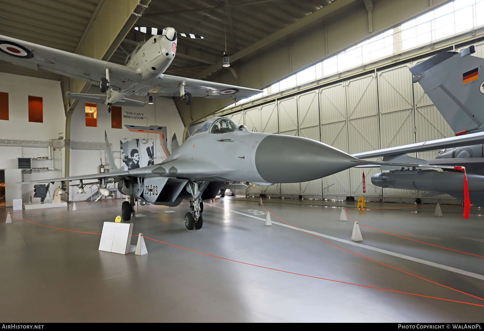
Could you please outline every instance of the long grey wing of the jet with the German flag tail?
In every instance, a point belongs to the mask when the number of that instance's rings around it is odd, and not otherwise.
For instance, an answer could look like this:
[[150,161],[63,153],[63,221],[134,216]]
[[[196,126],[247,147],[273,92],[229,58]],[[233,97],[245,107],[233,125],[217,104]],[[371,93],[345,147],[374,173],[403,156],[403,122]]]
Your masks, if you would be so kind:
[[363,153],[352,154],[359,159],[367,159],[379,156],[393,156],[428,150],[441,150],[444,148],[453,148],[484,143],[484,132],[477,132],[467,135],[458,135],[450,138],[443,138],[431,141],[424,141],[416,144],[409,144],[397,147],[385,148],[382,150],[372,150]]

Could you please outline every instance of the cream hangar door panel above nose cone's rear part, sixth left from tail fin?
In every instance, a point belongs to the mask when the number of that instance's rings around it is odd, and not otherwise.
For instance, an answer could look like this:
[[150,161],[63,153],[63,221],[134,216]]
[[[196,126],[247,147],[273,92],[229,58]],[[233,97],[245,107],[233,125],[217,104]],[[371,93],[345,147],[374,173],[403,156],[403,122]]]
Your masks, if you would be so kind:
[[[299,135],[297,97],[287,98],[278,103],[279,133],[281,135]],[[290,155],[287,155],[290,157]],[[299,183],[282,183],[281,195],[297,198],[301,194]]]

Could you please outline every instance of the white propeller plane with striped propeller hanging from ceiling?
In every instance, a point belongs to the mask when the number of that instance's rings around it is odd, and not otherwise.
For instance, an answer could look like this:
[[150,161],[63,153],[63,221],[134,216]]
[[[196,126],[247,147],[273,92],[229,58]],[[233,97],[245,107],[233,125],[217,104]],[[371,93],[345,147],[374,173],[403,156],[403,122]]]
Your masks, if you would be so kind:
[[[146,28],[138,30],[147,31]],[[177,33],[173,28],[148,28],[155,33],[146,42],[140,42],[127,57],[125,65],[59,49],[37,45],[0,35],[0,60],[30,69],[43,69],[59,75],[98,85],[101,93],[70,93],[70,99],[91,103],[142,107],[146,103],[128,99],[138,96],[178,96],[187,105],[193,97],[243,99],[261,93],[262,90],[210,82],[199,79],[163,74],[175,58],[177,36],[203,39],[191,33]]]

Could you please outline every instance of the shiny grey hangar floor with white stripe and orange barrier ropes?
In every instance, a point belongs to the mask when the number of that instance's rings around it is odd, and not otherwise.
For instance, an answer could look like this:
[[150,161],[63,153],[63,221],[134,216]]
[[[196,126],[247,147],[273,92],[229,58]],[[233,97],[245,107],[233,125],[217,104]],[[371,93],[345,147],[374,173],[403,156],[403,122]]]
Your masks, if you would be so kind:
[[[484,321],[484,222],[476,207],[464,220],[459,206],[434,217],[435,206],[375,203],[367,207],[393,209],[348,209],[340,221],[341,208],[356,202],[272,198],[259,206],[226,196],[205,203],[204,226],[191,232],[182,221],[187,203],[140,207],[146,216],[133,234],[156,240],[146,239],[148,254],[98,251],[95,233],[121,202],[15,212],[12,224],[3,220],[13,211],[2,209],[0,320]],[[359,243],[351,241],[351,219],[360,223]]]

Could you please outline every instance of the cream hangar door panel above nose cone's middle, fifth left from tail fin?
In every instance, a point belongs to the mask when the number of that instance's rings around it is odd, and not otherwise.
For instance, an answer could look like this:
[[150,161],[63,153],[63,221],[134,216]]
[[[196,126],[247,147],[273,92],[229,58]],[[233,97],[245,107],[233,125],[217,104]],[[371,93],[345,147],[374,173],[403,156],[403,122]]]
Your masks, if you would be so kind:
[[[313,91],[299,95],[298,126],[299,135],[305,138],[321,141],[319,134],[319,93]],[[305,181],[301,183],[303,197],[322,198],[322,180]]]

